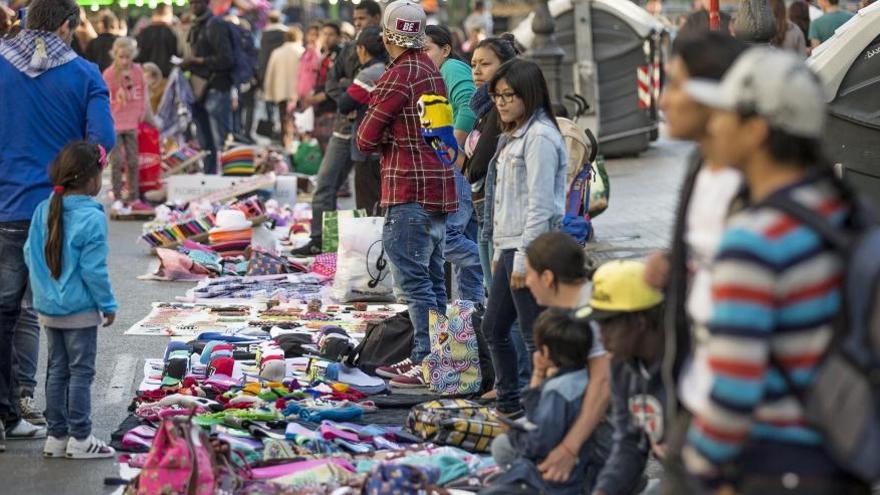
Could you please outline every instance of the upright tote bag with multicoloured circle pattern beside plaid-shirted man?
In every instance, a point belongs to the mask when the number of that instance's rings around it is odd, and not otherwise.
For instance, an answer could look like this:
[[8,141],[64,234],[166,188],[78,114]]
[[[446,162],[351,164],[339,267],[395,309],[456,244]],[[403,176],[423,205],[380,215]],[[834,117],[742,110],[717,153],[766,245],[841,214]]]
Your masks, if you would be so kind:
[[483,377],[473,315],[470,301],[453,302],[446,316],[429,313],[431,353],[424,360],[422,373],[431,392],[466,395],[480,391]]

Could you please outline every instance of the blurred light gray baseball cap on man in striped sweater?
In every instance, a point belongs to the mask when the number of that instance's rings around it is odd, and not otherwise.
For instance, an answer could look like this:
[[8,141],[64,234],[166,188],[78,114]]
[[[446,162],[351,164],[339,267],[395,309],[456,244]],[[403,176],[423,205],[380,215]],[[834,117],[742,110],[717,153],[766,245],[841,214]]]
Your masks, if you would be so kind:
[[692,79],[685,87],[708,107],[754,113],[794,136],[822,136],[826,112],[822,86],[793,53],[752,48],[737,58],[720,82]]

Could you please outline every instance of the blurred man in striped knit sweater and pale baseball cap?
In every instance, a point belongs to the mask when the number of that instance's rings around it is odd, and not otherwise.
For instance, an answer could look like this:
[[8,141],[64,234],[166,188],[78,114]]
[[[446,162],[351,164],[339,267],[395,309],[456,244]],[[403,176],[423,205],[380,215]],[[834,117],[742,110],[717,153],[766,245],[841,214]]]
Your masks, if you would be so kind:
[[[803,401],[835,349],[849,261],[813,224],[842,232],[853,218],[852,196],[822,152],[822,87],[797,56],[753,48],[720,83],[692,80],[687,91],[714,108],[712,154],[742,172],[751,206],[729,219],[711,269],[710,395],[685,464],[707,487],[743,495],[868,494],[829,442],[856,418],[814,424]],[[865,417],[876,404],[854,406]]]

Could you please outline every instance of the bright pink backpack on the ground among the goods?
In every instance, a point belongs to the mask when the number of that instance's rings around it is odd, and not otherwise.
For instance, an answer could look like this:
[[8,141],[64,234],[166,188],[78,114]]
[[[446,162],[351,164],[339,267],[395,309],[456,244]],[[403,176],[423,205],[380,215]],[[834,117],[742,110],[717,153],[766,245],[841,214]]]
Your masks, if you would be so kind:
[[132,483],[137,495],[211,495],[218,466],[208,435],[188,417],[162,420],[150,453]]

